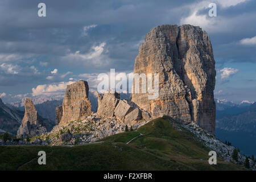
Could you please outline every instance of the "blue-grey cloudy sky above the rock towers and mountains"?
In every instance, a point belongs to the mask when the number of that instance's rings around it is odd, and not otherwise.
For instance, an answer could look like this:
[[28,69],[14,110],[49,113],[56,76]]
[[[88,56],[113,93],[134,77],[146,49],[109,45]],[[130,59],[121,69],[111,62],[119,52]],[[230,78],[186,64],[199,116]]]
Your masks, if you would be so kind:
[[[38,4],[46,4],[46,17]],[[217,16],[210,17],[210,3]],[[256,101],[256,1],[0,1],[0,97],[61,97],[77,80],[133,72],[144,37],[161,24],[207,31],[216,61],[214,97]]]

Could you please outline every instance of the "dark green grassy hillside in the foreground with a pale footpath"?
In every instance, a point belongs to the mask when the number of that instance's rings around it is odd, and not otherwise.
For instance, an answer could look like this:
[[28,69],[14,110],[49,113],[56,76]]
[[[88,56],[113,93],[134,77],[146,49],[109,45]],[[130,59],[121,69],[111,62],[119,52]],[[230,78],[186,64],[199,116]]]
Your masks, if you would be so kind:
[[[81,146],[1,146],[1,170],[241,170],[218,158],[209,165],[208,148],[190,132],[174,129],[170,118],[158,118],[138,131]],[[176,128],[176,127],[175,127]],[[142,134],[142,135],[141,135]],[[137,137],[137,138],[135,138]],[[129,144],[126,144],[131,139]],[[38,164],[38,151],[46,151],[47,164]]]

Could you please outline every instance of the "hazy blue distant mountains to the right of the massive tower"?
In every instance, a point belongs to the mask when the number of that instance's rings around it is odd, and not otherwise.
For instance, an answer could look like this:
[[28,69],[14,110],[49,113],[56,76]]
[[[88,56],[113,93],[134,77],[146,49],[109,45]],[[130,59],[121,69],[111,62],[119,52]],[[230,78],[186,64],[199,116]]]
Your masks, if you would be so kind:
[[246,155],[256,154],[256,102],[234,104],[216,100],[216,136]]

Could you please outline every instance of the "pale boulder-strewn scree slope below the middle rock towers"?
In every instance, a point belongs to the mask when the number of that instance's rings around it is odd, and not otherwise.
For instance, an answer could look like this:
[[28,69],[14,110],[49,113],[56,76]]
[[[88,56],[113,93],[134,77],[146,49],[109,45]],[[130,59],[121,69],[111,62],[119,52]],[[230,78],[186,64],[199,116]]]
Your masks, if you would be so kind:
[[[133,129],[136,130],[148,121],[134,123]],[[130,129],[130,127],[129,127]],[[52,146],[86,144],[96,142],[102,138],[123,133],[125,125],[117,121],[117,118],[102,118],[97,113],[84,115],[79,121],[55,126],[51,132],[40,136],[43,143]],[[1,142],[0,142],[1,145]]]

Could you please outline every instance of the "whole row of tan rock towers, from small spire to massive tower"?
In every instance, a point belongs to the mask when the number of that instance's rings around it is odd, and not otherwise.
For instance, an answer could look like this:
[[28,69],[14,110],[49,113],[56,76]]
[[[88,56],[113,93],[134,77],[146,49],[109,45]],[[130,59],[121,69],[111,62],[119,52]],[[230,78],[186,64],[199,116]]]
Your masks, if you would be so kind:
[[[118,93],[98,94],[97,113],[93,113],[88,82],[80,80],[67,86],[63,104],[56,107],[55,130],[92,115],[101,121],[112,119],[118,129],[119,125],[133,126],[151,117],[169,115],[178,121],[193,121],[214,134],[214,65],[209,36],[200,27],[163,25],[152,28],[139,48],[134,73],[158,73],[159,97],[148,100],[151,93],[133,93],[131,100],[121,100]],[[51,128],[48,124],[27,98],[18,136],[47,133]]]

